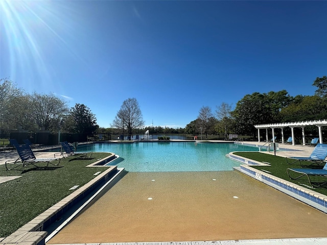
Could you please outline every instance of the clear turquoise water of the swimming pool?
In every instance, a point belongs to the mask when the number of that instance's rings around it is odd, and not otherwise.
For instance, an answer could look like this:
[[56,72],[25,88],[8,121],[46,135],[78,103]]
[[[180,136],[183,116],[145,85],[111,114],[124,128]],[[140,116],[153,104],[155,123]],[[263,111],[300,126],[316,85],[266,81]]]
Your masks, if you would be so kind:
[[78,151],[112,152],[120,158],[111,165],[132,172],[150,172],[232,170],[240,164],[226,154],[259,149],[233,143],[134,142],[88,144],[78,146]]

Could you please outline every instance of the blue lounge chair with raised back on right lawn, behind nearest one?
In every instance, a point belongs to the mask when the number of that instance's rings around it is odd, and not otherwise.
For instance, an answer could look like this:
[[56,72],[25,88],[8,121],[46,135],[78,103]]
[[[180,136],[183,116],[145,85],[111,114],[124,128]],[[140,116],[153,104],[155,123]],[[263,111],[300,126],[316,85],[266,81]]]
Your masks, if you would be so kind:
[[[310,157],[287,157],[286,161],[288,164],[293,164],[299,162],[302,167],[308,167],[312,164],[321,165],[325,158],[327,157],[327,144],[317,144]],[[309,161],[311,164],[303,166],[301,161]]]

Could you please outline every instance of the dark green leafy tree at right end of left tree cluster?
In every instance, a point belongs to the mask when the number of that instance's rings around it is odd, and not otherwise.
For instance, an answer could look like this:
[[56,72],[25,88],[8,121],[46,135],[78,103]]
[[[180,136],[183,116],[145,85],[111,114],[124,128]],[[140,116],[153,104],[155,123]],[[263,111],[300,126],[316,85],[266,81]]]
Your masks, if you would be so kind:
[[98,128],[95,114],[84,104],[72,107],[64,122],[64,129],[70,133],[93,135]]

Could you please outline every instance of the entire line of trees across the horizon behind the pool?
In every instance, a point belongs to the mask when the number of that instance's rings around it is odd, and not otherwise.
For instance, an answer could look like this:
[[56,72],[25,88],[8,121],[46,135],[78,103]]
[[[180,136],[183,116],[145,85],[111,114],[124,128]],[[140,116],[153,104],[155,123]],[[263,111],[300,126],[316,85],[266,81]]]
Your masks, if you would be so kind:
[[[125,100],[117,112],[111,128],[99,128],[96,115],[84,104],[68,108],[65,101],[54,94],[27,94],[9,79],[0,80],[0,131],[27,131],[94,134],[239,134],[255,136],[254,125],[278,122],[305,121],[327,118],[327,77],[316,78],[314,95],[291,96],[286,90],[246,94],[232,105],[221,103],[212,108],[202,106],[197,118],[185,128],[145,127],[141,108],[135,98]],[[316,134],[317,127],[306,132]],[[325,130],[325,129],[323,129]]]

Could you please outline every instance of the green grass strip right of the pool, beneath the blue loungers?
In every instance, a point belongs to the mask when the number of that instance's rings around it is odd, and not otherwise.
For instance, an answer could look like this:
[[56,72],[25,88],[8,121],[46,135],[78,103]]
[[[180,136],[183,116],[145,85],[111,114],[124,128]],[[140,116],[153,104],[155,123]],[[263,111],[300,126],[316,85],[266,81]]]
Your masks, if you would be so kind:
[[[249,158],[252,160],[256,160],[259,162],[269,162],[271,164],[270,166],[251,166],[251,167],[259,169],[259,170],[270,171],[270,173],[269,173],[270,175],[290,181],[297,185],[304,184],[304,185],[310,186],[308,178],[306,178],[306,177],[301,177],[300,179],[297,179],[297,180],[291,180],[288,177],[287,171],[286,171],[287,168],[302,168],[298,162],[294,163],[294,164],[288,164],[286,162],[285,157],[278,157],[278,156],[268,155],[268,154],[260,153],[260,152],[236,152],[234,154],[241,156],[241,157],[246,157],[246,158]],[[314,167],[322,168],[323,166],[311,166],[311,167],[312,168],[314,168]],[[291,176],[293,177],[293,176],[298,176],[298,175],[295,174],[295,175],[291,175]],[[326,181],[326,178],[322,177],[322,176],[317,176],[317,177],[311,177],[311,180],[313,180],[313,182],[322,182],[322,181]],[[323,187],[314,188],[313,190],[317,191],[321,194],[327,195],[327,186],[326,185]]]

